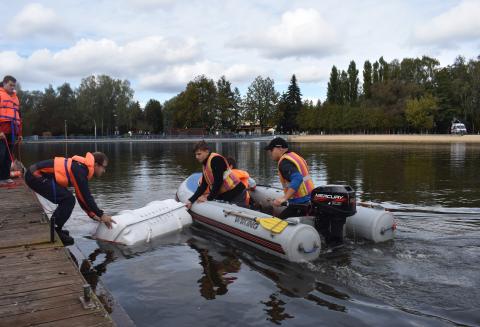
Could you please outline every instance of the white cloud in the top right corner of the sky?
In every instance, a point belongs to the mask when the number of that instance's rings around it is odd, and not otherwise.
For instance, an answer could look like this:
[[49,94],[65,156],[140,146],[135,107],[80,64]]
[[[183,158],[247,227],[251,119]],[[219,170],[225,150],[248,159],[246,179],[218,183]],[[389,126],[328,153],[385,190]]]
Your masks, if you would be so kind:
[[479,41],[480,1],[464,0],[447,12],[418,26],[413,33],[413,42],[451,46],[460,41]]

